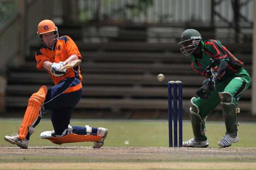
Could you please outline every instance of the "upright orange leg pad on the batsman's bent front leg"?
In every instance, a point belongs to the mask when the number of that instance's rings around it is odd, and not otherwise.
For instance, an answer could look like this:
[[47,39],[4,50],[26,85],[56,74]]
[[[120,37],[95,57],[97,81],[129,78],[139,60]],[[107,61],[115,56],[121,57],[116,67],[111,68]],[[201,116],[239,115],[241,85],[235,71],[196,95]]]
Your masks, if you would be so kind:
[[43,104],[47,94],[47,87],[43,85],[39,90],[32,94],[28,100],[28,107],[19,128],[19,139],[25,140],[28,134],[28,128],[38,118],[40,107]]

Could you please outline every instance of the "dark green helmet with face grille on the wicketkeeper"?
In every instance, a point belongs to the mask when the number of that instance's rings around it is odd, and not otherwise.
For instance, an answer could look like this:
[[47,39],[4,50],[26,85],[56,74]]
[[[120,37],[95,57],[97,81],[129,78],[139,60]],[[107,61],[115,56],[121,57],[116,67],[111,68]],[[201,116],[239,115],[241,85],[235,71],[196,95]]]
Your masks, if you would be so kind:
[[181,34],[181,41],[178,44],[182,44],[180,51],[184,55],[190,55],[197,48],[198,44],[202,40],[202,36],[197,30],[187,29]]

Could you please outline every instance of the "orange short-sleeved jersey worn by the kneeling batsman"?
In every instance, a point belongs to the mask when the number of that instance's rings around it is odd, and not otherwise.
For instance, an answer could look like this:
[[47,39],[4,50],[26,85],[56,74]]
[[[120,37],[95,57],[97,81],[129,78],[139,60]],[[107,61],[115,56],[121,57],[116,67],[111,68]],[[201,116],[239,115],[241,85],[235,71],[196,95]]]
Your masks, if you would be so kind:
[[[71,55],[77,55],[78,59],[82,58],[74,41],[69,36],[61,36],[57,39],[53,50],[47,47],[42,47],[39,51],[36,52],[35,58],[37,61],[37,69],[43,69],[43,63],[45,61],[59,63],[60,61],[65,61]],[[80,79],[80,81],[82,81],[80,68],[78,69],[78,72],[75,72],[73,68],[69,68],[67,69],[67,73],[60,77],[53,76],[50,71],[48,73],[55,85],[61,82],[63,79],[69,77],[77,77]]]

